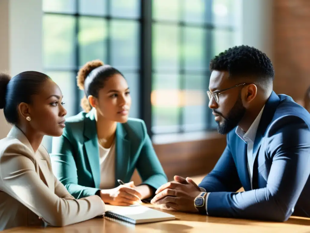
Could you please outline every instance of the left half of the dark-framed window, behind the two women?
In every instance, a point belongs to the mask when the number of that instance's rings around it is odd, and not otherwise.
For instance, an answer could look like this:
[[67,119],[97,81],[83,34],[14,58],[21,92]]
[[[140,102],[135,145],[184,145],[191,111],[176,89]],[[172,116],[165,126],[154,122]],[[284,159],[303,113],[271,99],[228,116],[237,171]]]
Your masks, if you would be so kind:
[[64,94],[67,116],[82,109],[78,69],[100,59],[119,69],[132,89],[130,116],[139,117],[139,0],[43,0],[44,69]]

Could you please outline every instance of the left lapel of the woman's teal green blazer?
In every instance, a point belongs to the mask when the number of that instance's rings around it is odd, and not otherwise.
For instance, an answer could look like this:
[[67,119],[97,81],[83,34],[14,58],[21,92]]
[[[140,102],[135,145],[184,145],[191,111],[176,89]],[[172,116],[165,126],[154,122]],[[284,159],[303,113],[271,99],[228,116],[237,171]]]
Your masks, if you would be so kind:
[[100,162],[99,147],[95,114],[92,110],[86,115],[84,120],[84,146],[87,154],[88,162],[91,167],[91,173],[94,179],[95,187],[100,185]]

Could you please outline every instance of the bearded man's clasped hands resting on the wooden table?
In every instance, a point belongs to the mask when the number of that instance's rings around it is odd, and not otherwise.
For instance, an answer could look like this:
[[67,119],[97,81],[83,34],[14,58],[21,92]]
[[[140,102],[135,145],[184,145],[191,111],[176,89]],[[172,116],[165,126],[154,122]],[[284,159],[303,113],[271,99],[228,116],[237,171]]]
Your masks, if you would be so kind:
[[198,212],[194,206],[195,198],[201,193],[200,188],[190,178],[175,176],[174,181],[159,187],[152,204],[164,204],[166,208],[185,212]]

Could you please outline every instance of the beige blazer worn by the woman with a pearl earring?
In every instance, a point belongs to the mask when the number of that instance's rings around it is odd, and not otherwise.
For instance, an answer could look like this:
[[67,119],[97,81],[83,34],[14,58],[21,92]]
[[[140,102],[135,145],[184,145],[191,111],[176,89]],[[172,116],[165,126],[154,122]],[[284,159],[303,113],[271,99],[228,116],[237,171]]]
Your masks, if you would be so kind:
[[99,196],[74,199],[52,172],[46,149],[34,153],[13,126],[0,140],[0,230],[16,226],[66,226],[102,216]]

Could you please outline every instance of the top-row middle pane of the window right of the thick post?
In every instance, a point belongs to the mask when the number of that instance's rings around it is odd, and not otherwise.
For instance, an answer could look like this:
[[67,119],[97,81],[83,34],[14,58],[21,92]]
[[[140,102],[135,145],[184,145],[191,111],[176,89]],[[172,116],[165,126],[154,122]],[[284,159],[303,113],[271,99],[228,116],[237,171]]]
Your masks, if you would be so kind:
[[190,23],[205,22],[206,0],[185,0],[184,21]]

